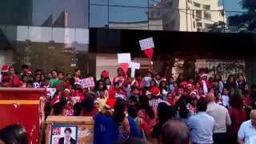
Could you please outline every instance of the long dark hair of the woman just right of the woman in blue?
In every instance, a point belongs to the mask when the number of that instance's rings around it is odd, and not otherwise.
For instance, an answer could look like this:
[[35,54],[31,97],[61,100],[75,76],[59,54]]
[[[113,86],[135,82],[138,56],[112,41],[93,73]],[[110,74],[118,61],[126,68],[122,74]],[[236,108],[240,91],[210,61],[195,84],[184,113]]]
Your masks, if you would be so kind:
[[141,103],[141,109],[145,110],[146,114],[152,119],[154,118],[154,110],[152,110],[152,107],[149,104],[149,98],[146,96],[139,97],[139,102]]

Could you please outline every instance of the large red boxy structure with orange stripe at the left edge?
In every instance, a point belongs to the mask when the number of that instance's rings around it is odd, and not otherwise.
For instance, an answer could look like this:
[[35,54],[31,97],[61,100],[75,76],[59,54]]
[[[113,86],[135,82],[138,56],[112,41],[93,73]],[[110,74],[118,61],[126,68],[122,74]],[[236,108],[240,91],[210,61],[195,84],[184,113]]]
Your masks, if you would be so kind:
[[44,89],[0,88],[0,129],[19,124],[26,128],[28,143],[40,142],[40,125],[44,122]]

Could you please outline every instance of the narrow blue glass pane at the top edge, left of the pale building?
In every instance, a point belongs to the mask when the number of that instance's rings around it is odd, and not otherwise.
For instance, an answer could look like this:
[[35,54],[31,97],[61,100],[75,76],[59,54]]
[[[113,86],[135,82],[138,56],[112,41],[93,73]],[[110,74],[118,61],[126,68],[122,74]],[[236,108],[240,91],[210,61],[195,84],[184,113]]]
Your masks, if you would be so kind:
[[110,6],[148,7],[148,0],[109,0]]

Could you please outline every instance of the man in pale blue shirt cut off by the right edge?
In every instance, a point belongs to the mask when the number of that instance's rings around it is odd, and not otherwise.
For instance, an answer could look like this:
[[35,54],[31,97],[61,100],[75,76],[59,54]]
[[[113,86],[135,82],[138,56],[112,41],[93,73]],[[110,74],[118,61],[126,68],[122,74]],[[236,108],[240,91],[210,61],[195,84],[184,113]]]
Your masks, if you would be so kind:
[[256,143],[256,110],[250,112],[250,120],[243,122],[238,130],[238,144]]

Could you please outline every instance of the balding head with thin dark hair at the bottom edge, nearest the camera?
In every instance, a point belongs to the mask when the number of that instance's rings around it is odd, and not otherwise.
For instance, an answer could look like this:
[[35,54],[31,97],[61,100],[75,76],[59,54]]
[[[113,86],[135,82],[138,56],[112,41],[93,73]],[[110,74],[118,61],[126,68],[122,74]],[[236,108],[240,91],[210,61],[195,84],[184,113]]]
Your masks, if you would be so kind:
[[189,144],[190,134],[185,122],[171,119],[162,126],[162,144]]

